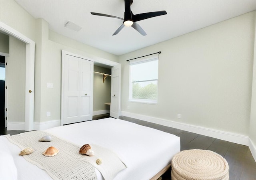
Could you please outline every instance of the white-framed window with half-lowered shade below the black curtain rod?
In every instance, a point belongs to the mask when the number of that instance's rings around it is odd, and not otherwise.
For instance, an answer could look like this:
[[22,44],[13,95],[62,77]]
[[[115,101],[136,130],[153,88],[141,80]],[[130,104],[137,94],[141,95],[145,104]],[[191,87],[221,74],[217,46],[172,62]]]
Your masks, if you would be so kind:
[[157,103],[158,57],[130,61],[130,101]]

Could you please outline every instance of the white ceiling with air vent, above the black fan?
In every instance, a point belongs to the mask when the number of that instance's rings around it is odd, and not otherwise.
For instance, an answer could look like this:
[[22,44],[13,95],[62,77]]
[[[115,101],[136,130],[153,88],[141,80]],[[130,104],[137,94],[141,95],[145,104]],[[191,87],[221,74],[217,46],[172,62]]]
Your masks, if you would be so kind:
[[[43,18],[50,30],[115,55],[204,28],[256,10],[256,0],[133,0],[134,14],[166,10],[167,15],[137,22],[147,33],[142,36],[132,27],[112,34],[122,20],[94,16],[90,12],[123,18],[124,0],[15,0],[34,18]],[[72,31],[64,25],[71,21],[82,30]]]

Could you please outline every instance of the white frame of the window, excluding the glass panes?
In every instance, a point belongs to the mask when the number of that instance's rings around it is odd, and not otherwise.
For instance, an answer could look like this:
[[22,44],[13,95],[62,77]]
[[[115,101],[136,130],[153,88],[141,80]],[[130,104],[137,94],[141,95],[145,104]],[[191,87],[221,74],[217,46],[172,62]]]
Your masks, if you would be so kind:
[[[133,99],[132,98],[132,83],[134,83],[134,81],[132,81],[132,65],[146,63],[146,62],[150,62],[150,61],[158,61],[158,63],[159,63],[158,55],[157,56],[153,56],[153,57],[144,58],[144,59],[138,59],[138,60],[130,61],[130,64],[129,64],[130,78],[129,78],[129,99],[128,99],[128,102],[155,104],[155,105],[158,103],[158,79],[159,78],[145,80],[145,81],[138,81],[138,82],[156,81],[156,85],[157,85],[157,88],[156,88],[156,100],[154,100],[154,99]],[[159,66],[158,66],[158,69],[159,69]],[[158,76],[158,69],[157,69],[157,76]]]

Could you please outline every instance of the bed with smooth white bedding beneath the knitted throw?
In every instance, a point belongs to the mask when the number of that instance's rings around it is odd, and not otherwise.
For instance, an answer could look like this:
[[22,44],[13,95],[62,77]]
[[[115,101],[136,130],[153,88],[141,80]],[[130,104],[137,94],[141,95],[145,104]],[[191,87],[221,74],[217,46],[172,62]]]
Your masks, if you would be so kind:
[[[158,178],[170,166],[172,157],[180,151],[178,136],[114,118],[54,127],[44,130],[43,133],[77,146],[97,144],[114,152],[126,166],[115,174],[114,180]],[[10,142],[7,136],[0,136],[2,178],[52,179],[46,170],[19,156],[21,148]],[[104,163],[104,158],[102,161]],[[95,172],[98,180],[104,179],[97,167]]]

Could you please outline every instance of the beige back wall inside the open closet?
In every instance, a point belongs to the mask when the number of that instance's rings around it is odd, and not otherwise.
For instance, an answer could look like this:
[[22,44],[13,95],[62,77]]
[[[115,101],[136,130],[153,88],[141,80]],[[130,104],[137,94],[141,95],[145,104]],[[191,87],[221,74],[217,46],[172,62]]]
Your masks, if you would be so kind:
[[[94,65],[94,71],[111,74],[111,69]],[[103,83],[103,75],[94,73],[93,79],[93,111],[109,110],[111,96],[111,76],[106,77]]]

